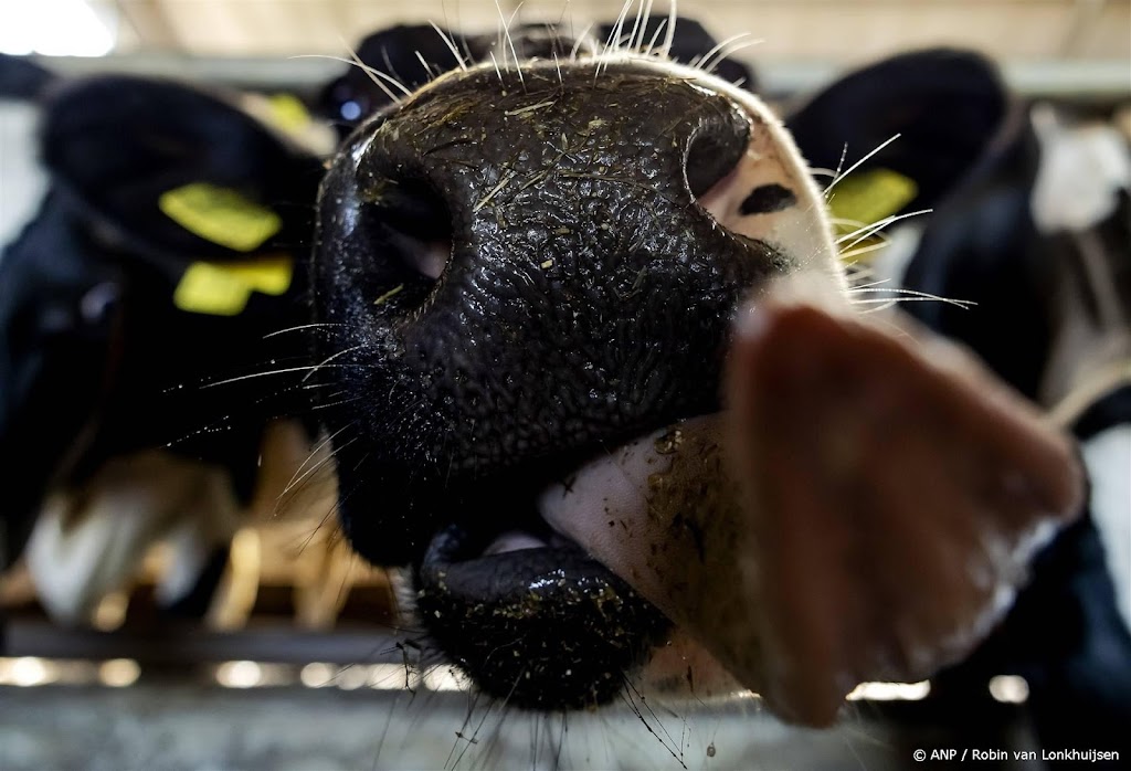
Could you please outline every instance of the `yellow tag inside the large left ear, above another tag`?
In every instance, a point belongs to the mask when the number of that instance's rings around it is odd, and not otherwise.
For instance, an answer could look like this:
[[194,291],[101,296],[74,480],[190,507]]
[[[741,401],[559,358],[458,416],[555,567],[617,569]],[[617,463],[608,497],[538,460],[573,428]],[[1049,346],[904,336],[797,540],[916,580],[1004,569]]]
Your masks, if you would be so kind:
[[279,216],[267,207],[208,182],[169,190],[157,206],[190,233],[238,252],[261,246],[283,227]]

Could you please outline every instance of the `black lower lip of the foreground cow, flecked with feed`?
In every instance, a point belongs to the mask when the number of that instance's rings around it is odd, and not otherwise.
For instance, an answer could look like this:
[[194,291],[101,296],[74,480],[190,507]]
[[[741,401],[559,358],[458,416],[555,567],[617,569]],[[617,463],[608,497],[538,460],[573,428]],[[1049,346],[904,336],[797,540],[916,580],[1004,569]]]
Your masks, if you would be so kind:
[[671,622],[554,532],[533,499],[524,514],[528,539],[474,518],[441,528],[415,565],[416,618],[482,692],[509,705],[607,703],[625,673],[666,639]]

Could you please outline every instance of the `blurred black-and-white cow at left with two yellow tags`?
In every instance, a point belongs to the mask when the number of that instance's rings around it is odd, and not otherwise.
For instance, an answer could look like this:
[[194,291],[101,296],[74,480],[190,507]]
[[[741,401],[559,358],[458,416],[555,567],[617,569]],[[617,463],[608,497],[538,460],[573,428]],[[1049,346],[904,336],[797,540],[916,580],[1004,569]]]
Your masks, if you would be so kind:
[[40,598],[81,622],[169,539],[161,600],[196,613],[265,430],[300,412],[305,346],[273,333],[307,321],[321,161],[236,94],[41,85],[50,189],[0,259],[5,560],[34,527]]

